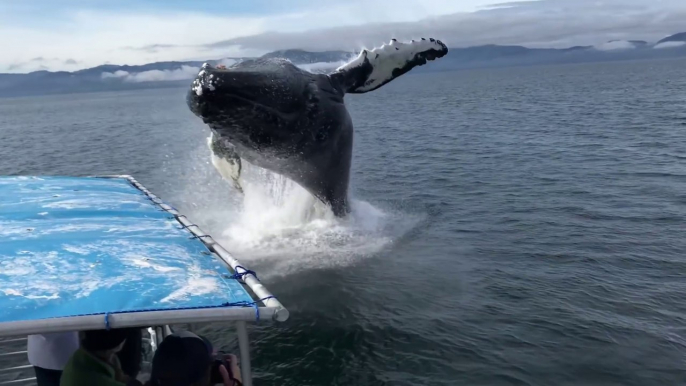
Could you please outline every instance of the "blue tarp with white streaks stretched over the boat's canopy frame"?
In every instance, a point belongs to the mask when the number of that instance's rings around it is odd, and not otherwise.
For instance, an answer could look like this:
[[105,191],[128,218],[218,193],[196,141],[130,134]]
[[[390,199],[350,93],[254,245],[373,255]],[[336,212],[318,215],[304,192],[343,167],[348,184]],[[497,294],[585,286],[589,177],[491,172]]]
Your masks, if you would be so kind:
[[0,177],[0,323],[253,302],[192,236],[126,178]]

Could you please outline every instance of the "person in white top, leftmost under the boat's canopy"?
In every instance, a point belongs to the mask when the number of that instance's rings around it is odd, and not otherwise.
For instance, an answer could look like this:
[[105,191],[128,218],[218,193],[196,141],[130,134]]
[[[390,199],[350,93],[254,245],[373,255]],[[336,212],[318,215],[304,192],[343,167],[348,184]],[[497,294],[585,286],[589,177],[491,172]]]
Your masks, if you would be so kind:
[[59,386],[62,370],[78,348],[78,331],[29,335],[26,352],[36,374],[36,384]]

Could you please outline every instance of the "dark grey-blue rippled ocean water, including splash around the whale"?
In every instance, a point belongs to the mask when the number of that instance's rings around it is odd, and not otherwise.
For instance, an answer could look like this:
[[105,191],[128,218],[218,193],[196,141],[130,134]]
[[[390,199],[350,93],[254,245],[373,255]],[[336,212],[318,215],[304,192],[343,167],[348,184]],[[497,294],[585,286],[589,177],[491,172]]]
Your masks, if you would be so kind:
[[0,174],[132,174],[215,235],[291,312],[250,329],[256,384],[686,383],[686,61],[348,96],[346,220],[221,181],[184,93],[0,99]]

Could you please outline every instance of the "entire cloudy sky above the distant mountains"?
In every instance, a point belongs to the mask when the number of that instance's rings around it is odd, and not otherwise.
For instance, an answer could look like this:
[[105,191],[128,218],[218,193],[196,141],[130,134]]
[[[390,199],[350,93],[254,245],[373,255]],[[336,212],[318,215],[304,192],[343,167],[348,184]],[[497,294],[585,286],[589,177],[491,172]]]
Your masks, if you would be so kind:
[[392,37],[569,47],[684,31],[685,0],[0,0],[0,72],[352,51]]

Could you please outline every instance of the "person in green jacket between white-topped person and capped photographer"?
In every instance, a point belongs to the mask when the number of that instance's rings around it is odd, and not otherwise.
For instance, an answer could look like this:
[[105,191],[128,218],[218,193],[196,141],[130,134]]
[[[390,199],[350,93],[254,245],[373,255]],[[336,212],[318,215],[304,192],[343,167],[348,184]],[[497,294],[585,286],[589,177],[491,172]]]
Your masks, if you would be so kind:
[[83,332],[81,347],[71,356],[62,372],[61,386],[141,385],[126,375],[117,353],[122,350],[131,329],[91,330]]

